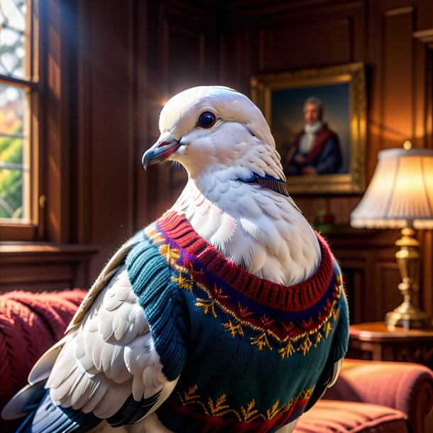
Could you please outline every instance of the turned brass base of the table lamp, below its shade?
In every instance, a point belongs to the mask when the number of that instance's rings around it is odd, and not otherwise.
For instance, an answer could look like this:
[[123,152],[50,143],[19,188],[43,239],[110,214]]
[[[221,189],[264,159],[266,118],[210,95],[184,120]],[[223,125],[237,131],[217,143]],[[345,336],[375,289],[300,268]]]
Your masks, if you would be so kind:
[[420,243],[413,237],[415,230],[406,227],[402,229],[401,233],[402,237],[395,242],[396,245],[400,246],[400,250],[395,253],[395,258],[402,276],[402,283],[398,285],[398,288],[405,300],[394,311],[386,314],[385,325],[391,330],[395,327],[427,329],[432,327],[432,318],[412,302],[418,291],[418,285],[415,284],[415,273],[420,258],[417,251],[417,246]]

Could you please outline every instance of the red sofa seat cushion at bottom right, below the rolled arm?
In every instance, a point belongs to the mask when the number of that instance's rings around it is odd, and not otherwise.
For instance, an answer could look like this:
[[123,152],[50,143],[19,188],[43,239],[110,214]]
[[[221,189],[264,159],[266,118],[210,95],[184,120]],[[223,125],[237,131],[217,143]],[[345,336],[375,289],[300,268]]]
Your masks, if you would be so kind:
[[320,400],[302,415],[295,433],[407,433],[406,415],[390,407]]

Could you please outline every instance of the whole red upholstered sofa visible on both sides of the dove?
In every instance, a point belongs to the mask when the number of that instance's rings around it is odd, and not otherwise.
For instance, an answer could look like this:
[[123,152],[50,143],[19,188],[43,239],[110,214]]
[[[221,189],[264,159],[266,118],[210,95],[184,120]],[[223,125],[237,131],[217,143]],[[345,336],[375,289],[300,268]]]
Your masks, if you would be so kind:
[[[0,409],[38,357],[60,339],[84,290],[0,295]],[[433,373],[410,363],[344,361],[339,379],[297,424],[297,433],[427,433]],[[431,414],[430,414],[431,415]],[[0,421],[1,432],[11,423]]]

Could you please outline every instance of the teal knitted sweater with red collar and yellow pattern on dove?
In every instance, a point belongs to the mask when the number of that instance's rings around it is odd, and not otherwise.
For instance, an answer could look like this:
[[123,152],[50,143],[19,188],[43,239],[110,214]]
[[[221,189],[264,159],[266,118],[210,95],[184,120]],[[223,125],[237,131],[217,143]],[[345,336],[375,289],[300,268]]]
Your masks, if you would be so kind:
[[325,364],[346,353],[341,271],[322,262],[284,287],[234,265],[169,212],[136,235],[128,276],[169,380],[172,432],[275,432],[305,411]]

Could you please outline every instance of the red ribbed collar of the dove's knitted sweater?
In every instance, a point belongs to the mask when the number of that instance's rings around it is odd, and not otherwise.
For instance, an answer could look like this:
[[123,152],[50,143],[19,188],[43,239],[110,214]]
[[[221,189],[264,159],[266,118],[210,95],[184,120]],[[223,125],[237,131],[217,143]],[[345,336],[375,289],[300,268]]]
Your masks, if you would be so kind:
[[333,275],[333,257],[326,241],[316,233],[322,253],[319,268],[311,278],[296,285],[284,286],[252,275],[225,258],[192,228],[185,215],[167,212],[158,226],[180,248],[197,257],[207,270],[256,302],[284,311],[301,311],[318,302],[327,291]]

